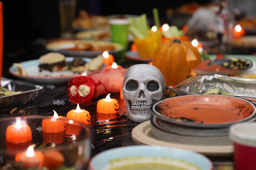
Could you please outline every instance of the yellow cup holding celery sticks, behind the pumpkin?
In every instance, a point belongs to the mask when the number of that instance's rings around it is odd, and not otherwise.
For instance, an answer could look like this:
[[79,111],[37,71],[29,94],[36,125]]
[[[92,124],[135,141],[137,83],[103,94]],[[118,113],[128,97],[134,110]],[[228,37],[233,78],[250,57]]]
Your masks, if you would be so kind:
[[155,49],[161,44],[162,35],[161,32],[153,32],[148,30],[148,37],[138,39],[133,37],[133,42],[137,46],[138,53],[142,58],[152,58]]

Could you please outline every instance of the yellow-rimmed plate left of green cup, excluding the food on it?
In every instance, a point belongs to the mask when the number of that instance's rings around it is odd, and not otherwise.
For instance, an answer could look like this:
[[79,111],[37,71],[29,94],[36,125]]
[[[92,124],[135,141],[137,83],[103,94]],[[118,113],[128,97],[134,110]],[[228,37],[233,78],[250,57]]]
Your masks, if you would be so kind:
[[[54,41],[46,44],[45,48],[52,52],[59,52],[67,56],[77,56],[77,57],[88,57],[94,58],[99,54],[102,54],[104,51],[74,51],[74,50],[65,50],[67,48],[73,48],[77,42],[86,42],[93,44],[94,41],[90,40],[62,40]],[[115,49],[108,50],[108,53],[114,54],[123,50],[123,46],[118,43],[113,43],[110,41],[97,41],[97,44],[100,45],[113,45]]]

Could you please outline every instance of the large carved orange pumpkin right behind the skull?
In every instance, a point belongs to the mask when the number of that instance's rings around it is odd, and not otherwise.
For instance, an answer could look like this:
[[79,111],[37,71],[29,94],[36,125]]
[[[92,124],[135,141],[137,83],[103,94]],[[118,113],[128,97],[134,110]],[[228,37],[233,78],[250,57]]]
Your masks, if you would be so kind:
[[164,75],[166,86],[175,86],[192,77],[193,69],[201,62],[201,55],[189,41],[166,40],[160,44],[153,57],[156,66]]

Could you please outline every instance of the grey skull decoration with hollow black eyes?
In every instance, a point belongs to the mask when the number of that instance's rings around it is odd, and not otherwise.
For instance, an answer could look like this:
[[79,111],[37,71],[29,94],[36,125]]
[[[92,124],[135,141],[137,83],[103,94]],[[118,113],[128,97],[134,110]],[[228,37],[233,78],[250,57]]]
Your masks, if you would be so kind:
[[122,95],[126,116],[134,122],[150,120],[151,105],[164,98],[165,79],[150,64],[135,64],[124,75]]

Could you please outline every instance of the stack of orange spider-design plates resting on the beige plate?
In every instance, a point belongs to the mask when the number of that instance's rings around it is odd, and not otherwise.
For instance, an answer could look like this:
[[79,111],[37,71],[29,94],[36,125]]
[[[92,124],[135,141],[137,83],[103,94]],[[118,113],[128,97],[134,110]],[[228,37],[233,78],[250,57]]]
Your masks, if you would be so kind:
[[189,145],[232,145],[229,127],[255,120],[252,102],[225,95],[186,95],[152,106],[151,131],[163,141]]

